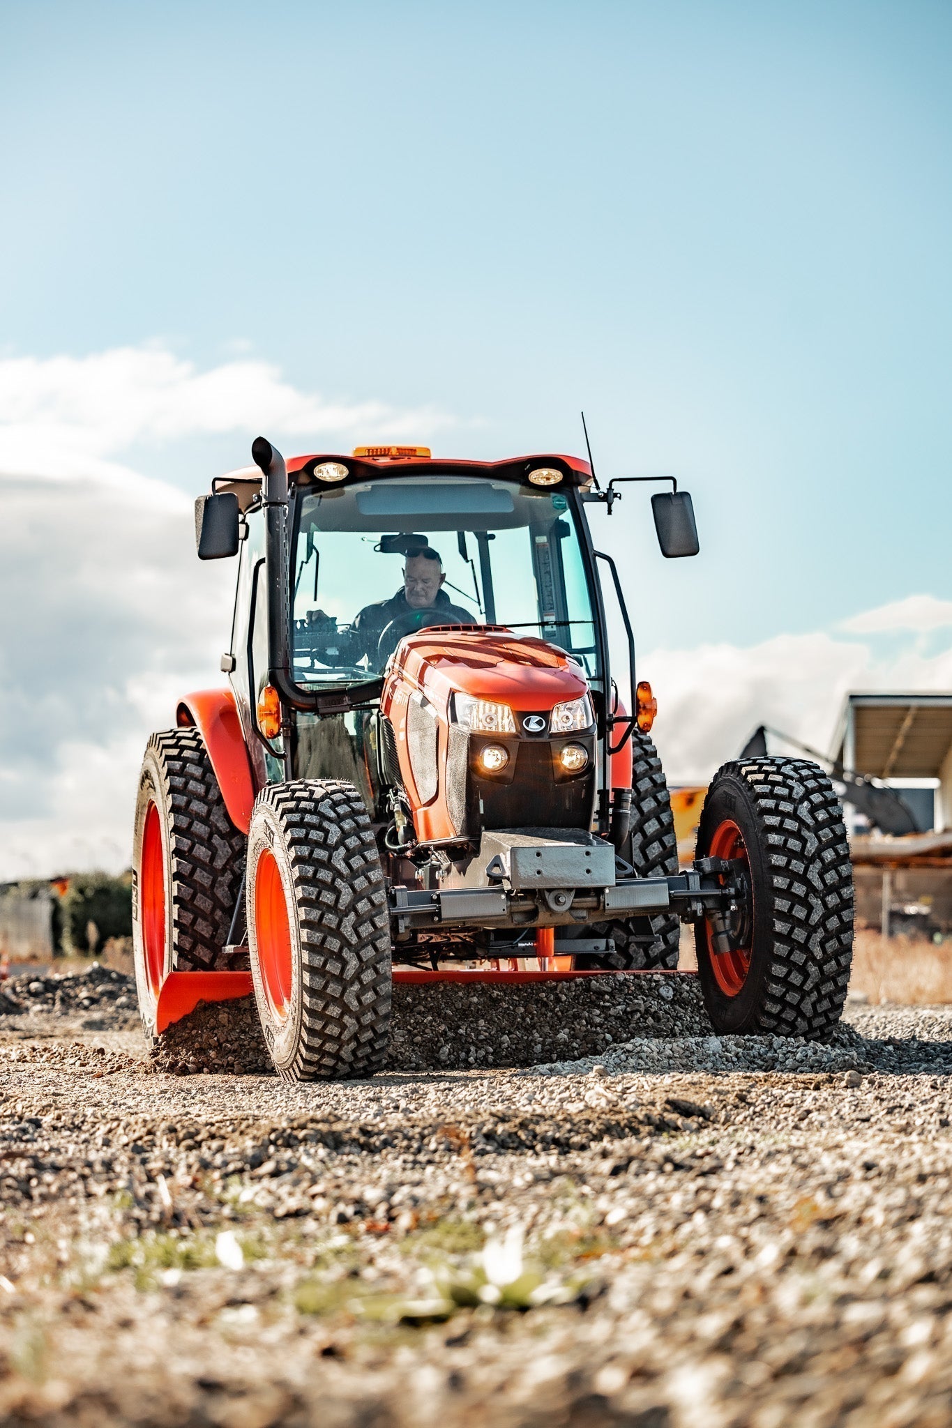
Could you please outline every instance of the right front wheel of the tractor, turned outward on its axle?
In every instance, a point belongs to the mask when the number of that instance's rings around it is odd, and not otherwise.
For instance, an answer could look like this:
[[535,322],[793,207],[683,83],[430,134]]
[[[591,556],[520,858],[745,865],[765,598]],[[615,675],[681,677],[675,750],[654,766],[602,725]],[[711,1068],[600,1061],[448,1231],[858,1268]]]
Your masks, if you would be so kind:
[[802,758],[724,764],[704,801],[698,858],[722,855],[731,840],[745,895],[726,918],[695,924],[714,1030],[822,1041],[844,1008],[854,930],[849,844],[828,775]]

